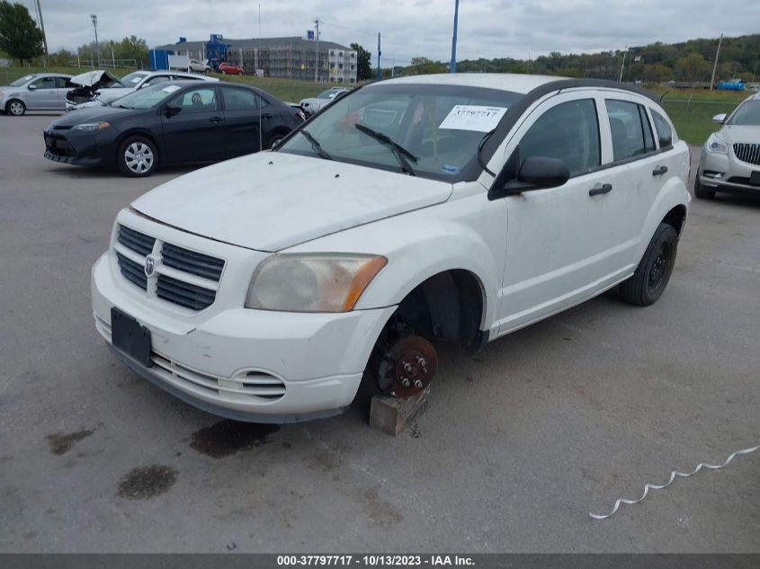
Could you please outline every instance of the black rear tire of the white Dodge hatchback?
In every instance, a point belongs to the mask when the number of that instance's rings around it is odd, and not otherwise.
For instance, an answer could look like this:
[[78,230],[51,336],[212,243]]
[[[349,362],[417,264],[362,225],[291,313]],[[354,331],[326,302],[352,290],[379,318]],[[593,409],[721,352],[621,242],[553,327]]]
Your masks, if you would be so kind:
[[639,307],[648,307],[662,296],[673,274],[678,234],[673,226],[661,223],[652,236],[636,272],[620,285],[623,300]]

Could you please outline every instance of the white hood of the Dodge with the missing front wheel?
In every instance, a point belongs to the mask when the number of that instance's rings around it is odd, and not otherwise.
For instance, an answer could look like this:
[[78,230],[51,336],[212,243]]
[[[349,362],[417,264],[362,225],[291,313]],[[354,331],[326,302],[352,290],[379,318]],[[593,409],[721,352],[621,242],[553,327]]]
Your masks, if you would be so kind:
[[442,203],[452,184],[283,152],[261,152],[175,178],[132,203],[196,235],[274,252]]

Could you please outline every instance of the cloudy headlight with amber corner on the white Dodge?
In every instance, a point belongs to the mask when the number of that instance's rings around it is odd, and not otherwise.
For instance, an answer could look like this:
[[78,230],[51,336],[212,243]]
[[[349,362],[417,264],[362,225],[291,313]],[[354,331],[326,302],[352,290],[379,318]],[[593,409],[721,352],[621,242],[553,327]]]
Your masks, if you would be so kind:
[[254,273],[246,308],[347,312],[388,259],[362,254],[282,254]]

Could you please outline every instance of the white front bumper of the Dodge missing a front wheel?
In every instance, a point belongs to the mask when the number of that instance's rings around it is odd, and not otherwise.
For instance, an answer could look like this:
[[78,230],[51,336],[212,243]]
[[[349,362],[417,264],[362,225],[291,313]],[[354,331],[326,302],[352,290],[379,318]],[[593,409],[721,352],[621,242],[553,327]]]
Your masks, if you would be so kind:
[[[298,422],[341,413],[395,309],[300,314],[237,307],[202,322],[200,316],[172,317],[132,294],[109,256],[94,265],[92,299],[95,325],[112,351],[174,396],[238,421]],[[150,330],[151,367],[112,347],[112,307]]]

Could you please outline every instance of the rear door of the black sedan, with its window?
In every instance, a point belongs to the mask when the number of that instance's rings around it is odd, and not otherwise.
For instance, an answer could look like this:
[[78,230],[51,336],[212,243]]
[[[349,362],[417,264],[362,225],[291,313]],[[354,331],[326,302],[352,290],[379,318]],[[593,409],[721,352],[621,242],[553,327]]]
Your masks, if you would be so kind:
[[243,156],[257,152],[266,144],[267,133],[262,125],[276,120],[273,107],[259,93],[243,87],[220,85],[224,100],[225,152],[227,156]]

